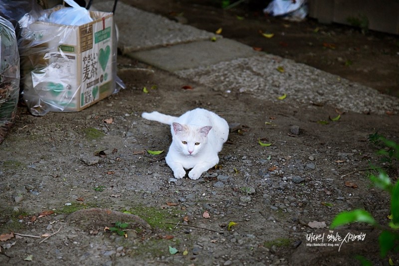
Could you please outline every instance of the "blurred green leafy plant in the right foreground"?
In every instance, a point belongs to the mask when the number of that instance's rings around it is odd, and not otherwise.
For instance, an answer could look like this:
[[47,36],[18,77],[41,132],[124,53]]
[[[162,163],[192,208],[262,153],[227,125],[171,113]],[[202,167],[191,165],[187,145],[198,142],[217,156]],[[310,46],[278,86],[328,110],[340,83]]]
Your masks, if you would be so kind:
[[[378,154],[388,157],[391,163],[390,167],[393,167],[393,160],[399,160],[399,145],[378,133],[369,135],[369,140],[374,144],[383,143],[385,145],[384,148],[378,151]],[[377,175],[370,174],[369,177],[376,187],[390,194],[391,215],[389,216],[390,222],[388,226],[377,223],[368,211],[358,209],[339,213],[334,218],[330,228],[334,229],[353,222],[362,222],[375,226],[382,231],[379,236],[380,256],[381,258],[385,258],[390,251],[399,253],[399,181],[393,183],[389,175],[382,168],[378,169],[378,172]],[[358,256],[357,259],[364,266],[372,265],[370,261],[362,256]]]

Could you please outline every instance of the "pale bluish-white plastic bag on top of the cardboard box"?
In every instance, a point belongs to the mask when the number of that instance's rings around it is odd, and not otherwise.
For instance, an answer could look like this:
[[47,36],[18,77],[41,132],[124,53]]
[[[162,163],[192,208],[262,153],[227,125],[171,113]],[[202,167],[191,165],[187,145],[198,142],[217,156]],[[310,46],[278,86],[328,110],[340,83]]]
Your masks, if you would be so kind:
[[71,7],[65,7],[54,11],[48,17],[48,22],[55,24],[80,26],[89,22],[93,19],[90,17],[89,11],[78,5],[73,0],[64,0]]

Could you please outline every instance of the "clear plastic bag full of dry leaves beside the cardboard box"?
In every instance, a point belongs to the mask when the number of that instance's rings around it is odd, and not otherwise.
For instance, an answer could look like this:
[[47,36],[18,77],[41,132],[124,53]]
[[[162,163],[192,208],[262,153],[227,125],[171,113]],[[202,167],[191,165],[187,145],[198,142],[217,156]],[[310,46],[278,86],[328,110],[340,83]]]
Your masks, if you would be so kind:
[[0,143],[15,122],[19,98],[19,54],[14,27],[0,16]]

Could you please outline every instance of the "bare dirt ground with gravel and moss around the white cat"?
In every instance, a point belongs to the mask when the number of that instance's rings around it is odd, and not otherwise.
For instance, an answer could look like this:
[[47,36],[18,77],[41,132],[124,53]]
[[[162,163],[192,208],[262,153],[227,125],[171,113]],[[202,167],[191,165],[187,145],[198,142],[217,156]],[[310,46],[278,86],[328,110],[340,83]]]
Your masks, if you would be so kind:
[[[335,36],[347,34],[340,32]],[[380,258],[379,230],[328,229],[337,213],[356,208],[388,223],[389,195],[368,179],[370,164],[382,165],[368,137],[378,132],[399,142],[397,115],[345,113],[333,122],[339,110],[331,106],[297,109],[215,92],[122,56],[118,64],[127,89],[88,109],[44,117],[18,109],[0,145],[0,265],[357,265],[356,255],[374,265],[388,265],[388,258],[399,264],[397,254]],[[169,127],[140,115],[195,107],[234,129],[218,167],[199,180],[176,180],[165,163]],[[105,155],[94,155],[101,150]],[[313,228],[314,221],[327,227]],[[126,237],[107,229],[116,222],[129,222],[120,229]],[[327,240],[349,233],[365,237]],[[308,239],[323,234],[323,241]]]

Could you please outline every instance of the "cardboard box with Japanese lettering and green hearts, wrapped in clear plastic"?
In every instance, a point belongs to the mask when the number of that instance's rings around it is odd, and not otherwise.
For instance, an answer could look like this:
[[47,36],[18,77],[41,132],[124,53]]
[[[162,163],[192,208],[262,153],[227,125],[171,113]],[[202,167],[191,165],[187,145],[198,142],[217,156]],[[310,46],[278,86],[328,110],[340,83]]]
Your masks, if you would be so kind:
[[23,28],[23,98],[33,115],[80,111],[115,91],[113,14],[90,16],[81,26],[36,21]]

